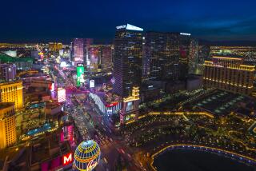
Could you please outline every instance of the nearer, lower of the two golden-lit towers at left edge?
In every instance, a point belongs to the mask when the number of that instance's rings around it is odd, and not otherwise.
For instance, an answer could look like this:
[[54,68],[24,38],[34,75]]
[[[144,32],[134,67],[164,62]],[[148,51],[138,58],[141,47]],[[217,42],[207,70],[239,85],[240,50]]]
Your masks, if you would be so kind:
[[12,102],[0,102],[0,135],[0,149],[14,145],[17,141],[16,118]]

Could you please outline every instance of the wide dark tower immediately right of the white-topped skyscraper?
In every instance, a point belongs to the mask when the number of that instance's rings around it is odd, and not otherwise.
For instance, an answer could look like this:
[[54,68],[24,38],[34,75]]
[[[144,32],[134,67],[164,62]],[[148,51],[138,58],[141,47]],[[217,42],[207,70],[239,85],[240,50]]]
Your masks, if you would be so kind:
[[149,80],[178,79],[178,34],[148,32],[144,51],[143,66],[149,67],[144,72],[147,73],[146,78]]

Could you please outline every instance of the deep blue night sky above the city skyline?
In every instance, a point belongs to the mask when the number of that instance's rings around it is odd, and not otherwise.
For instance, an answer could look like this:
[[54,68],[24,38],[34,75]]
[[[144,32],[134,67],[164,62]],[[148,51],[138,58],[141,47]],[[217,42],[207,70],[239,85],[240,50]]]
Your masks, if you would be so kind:
[[115,26],[191,33],[210,41],[256,41],[253,0],[6,0],[0,42],[108,42]]

